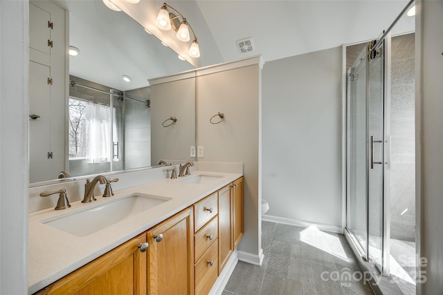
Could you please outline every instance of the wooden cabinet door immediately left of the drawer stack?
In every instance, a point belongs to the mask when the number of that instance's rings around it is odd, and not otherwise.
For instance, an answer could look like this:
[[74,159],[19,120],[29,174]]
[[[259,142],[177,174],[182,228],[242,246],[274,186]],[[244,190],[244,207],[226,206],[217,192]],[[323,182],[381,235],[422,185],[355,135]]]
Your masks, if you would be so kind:
[[147,232],[150,294],[194,294],[192,207]]

